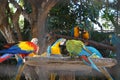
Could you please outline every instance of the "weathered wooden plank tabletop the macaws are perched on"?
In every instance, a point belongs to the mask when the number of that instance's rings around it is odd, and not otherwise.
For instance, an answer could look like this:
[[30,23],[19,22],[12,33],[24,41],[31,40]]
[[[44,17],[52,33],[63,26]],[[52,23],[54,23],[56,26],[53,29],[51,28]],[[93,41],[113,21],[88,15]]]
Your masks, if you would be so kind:
[[[117,64],[116,59],[112,58],[91,58],[93,62],[99,67],[112,67]],[[79,58],[71,59],[70,57],[28,57],[25,64],[30,66],[54,66],[59,69],[62,67],[65,68],[69,66],[71,68],[75,67],[75,69],[79,69],[80,67],[87,66],[81,61]],[[69,68],[70,69],[70,68]]]

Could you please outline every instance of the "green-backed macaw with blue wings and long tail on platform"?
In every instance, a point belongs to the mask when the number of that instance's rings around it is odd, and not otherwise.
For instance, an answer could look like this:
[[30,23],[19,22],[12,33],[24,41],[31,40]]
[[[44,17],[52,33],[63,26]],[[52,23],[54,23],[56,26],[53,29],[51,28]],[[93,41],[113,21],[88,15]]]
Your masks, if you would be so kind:
[[101,53],[94,47],[85,46],[80,40],[68,40],[66,41],[66,49],[70,53],[70,56],[80,56],[84,63],[102,72],[109,80],[113,80],[105,67],[97,67],[91,60],[91,58],[103,58]]

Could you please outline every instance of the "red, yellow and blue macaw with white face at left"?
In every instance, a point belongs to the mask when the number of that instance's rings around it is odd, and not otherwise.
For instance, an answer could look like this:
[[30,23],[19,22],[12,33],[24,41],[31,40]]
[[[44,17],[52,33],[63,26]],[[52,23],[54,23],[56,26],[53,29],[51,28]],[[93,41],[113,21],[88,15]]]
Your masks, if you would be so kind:
[[38,51],[37,43],[38,39],[33,38],[31,41],[21,41],[8,49],[0,50],[0,54],[2,54],[0,57],[0,63],[14,56],[15,54],[25,54],[25,57],[30,53],[36,53]]

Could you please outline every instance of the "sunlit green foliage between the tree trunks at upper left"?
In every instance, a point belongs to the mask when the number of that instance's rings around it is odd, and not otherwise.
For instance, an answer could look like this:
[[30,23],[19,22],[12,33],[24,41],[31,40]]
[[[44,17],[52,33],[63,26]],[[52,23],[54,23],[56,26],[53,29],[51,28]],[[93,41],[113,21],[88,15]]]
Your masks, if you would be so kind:
[[[20,7],[28,15],[32,12],[32,7],[31,7],[31,4],[29,3],[28,0],[17,0],[17,3],[18,3],[18,5],[20,5]],[[13,30],[12,30],[13,31],[13,36],[16,38],[16,40],[19,37],[16,34],[22,34],[23,40],[24,39],[27,40],[27,39],[31,38],[31,32],[30,32],[30,27],[29,27],[30,24],[29,24],[29,22],[28,21],[26,22],[24,16],[20,14],[18,16],[19,17],[18,21],[16,23],[13,23],[15,21],[12,21],[13,20],[12,17],[15,16],[17,8],[15,7],[15,5],[13,3],[10,3],[10,2],[9,2],[8,7],[9,7],[10,10],[6,11],[6,14],[8,16],[9,25],[11,26],[11,28],[13,28]],[[14,27],[16,27],[15,24],[19,24],[17,28],[20,28],[20,32],[15,31],[15,29],[16,29],[16,28],[14,29]],[[27,35],[27,37],[26,37],[26,35]],[[24,36],[26,38],[24,38]]]

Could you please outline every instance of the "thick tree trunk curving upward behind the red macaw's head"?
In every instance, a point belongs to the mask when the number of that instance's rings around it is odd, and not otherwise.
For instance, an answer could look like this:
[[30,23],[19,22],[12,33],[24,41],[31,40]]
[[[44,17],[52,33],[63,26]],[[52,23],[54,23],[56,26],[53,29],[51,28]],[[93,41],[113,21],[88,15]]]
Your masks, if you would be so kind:
[[[47,29],[45,27],[47,15],[49,10],[58,2],[59,0],[43,0],[39,1],[40,6],[37,6],[37,22],[36,28],[33,29],[32,33],[34,34],[33,37],[39,38],[39,46],[40,46],[40,54],[46,51],[47,44],[46,44],[46,33]],[[37,3],[38,4],[38,3]],[[37,33],[36,33],[37,32]]]

